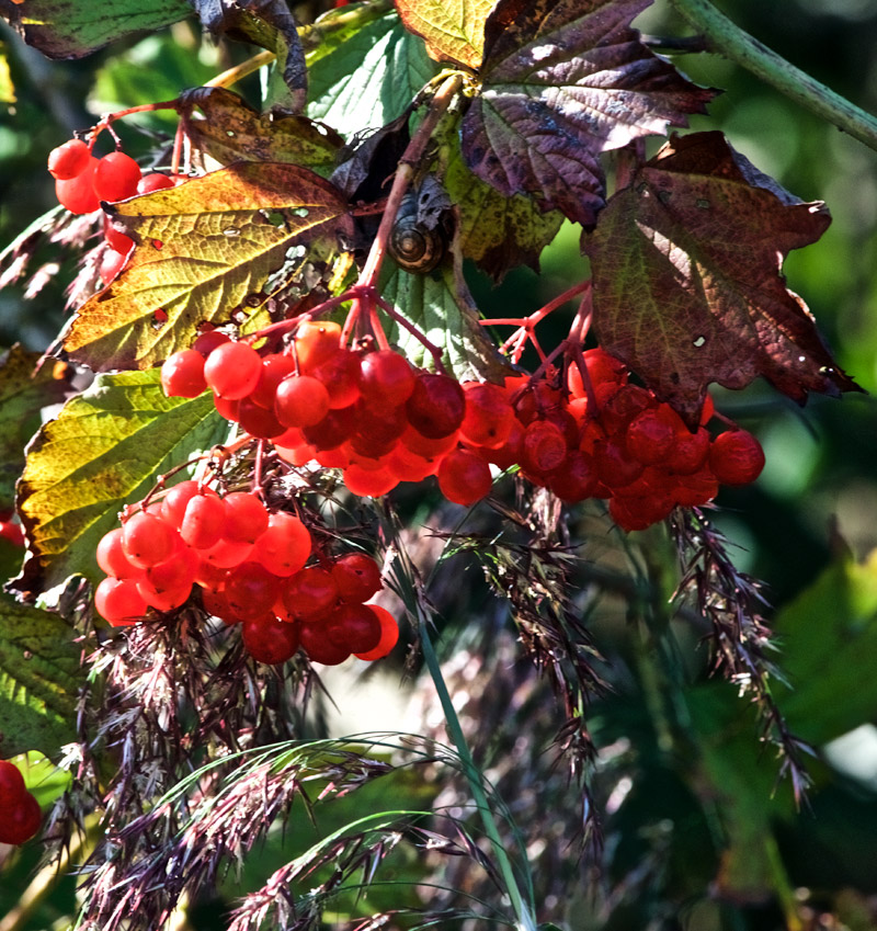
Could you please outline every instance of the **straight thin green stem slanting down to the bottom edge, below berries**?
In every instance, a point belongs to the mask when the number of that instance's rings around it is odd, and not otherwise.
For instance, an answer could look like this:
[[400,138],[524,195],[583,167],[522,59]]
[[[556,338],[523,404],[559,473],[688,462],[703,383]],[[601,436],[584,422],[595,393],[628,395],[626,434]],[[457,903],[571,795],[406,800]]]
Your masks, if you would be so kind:
[[420,628],[423,659],[426,662],[426,668],[430,670],[430,675],[435,684],[435,691],[438,693],[438,701],[442,703],[442,711],[444,712],[445,720],[447,723],[447,730],[463,763],[463,769],[469,783],[469,790],[472,794],[472,798],[475,799],[475,806],[481,815],[485,833],[490,840],[493,848],[493,854],[497,858],[497,862],[500,867],[500,873],[505,881],[505,887],[508,889],[509,897],[512,900],[512,908],[514,909],[515,917],[517,918],[517,928],[520,931],[535,931],[536,920],[533,913],[533,907],[527,905],[521,895],[521,888],[514,875],[514,868],[512,867],[511,860],[505,851],[499,828],[497,827],[497,821],[493,818],[493,810],[491,809],[490,803],[488,802],[485,793],[485,786],[481,782],[481,773],[469,752],[469,747],[466,743],[466,737],[463,734],[463,727],[460,726],[459,718],[457,717],[457,713],[454,708],[454,703],[451,701],[451,693],[447,691],[447,684],[445,683],[444,675],[442,675],[442,667],[438,662],[438,657],[435,655],[432,640],[430,639],[429,618],[423,615],[420,608],[418,609],[418,626]]

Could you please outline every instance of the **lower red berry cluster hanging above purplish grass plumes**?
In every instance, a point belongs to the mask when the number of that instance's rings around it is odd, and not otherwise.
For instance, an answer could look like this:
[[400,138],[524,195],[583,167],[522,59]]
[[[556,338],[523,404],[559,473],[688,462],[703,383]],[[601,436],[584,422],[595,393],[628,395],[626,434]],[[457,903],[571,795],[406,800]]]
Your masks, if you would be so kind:
[[136,506],[98,545],[106,578],[94,604],[114,626],[136,624],[148,608],[184,604],[193,586],[204,609],[243,624],[243,644],[261,662],[299,648],[334,665],[351,654],[386,656],[399,636],[389,612],[366,605],[381,588],[374,559],[350,553],[307,566],[311,537],[286,511],[270,513],[252,493],[220,497],[193,480],[161,500]]

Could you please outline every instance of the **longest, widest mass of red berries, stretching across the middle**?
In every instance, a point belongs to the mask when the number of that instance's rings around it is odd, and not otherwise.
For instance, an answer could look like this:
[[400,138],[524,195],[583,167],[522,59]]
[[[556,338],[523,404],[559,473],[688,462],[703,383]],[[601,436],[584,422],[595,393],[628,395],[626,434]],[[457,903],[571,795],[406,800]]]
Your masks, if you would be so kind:
[[491,465],[516,465],[563,501],[607,499],[620,527],[643,530],[676,506],[710,501],[720,482],[753,481],[764,465],[745,430],[710,435],[709,399],[692,432],[600,349],[583,354],[586,378],[571,365],[561,390],[526,375],[459,384],[390,350],[346,349],[340,333],[304,322],[289,351],[263,355],[213,330],[167,360],[162,385],[178,397],[212,389],[224,417],[282,458],[340,468],[363,496],[435,475],[448,500],[471,504],[489,493]]

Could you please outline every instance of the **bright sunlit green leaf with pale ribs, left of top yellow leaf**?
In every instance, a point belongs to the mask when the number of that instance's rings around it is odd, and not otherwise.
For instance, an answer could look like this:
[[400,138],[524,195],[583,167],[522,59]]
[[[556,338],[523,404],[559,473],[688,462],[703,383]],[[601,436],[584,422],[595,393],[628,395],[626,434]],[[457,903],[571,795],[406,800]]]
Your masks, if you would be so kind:
[[391,13],[315,61],[308,115],[348,136],[377,129],[401,116],[436,70],[423,43]]

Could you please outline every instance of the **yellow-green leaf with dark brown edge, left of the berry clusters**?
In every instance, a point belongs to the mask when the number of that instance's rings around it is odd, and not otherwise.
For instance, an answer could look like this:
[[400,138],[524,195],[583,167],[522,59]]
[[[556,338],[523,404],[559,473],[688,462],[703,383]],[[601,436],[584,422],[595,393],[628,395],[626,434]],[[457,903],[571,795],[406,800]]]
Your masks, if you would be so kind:
[[145,498],[159,475],[227,439],[228,423],[209,393],[168,398],[159,375],[99,376],[34,439],[19,487],[32,550],[15,582],[20,591],[45,591],[73,574],[92,582],[103,578],[94,554],[124,504]]

